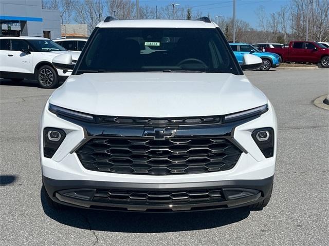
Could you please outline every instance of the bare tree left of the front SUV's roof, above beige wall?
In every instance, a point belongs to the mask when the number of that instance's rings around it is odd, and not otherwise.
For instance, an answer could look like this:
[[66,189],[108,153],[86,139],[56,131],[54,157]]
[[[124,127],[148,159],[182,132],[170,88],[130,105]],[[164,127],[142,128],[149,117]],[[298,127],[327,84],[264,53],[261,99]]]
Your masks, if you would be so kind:
[[84,0],[75,6],[74,20],[78,24],[87,24],[91,33],[95,26],[104,20],[106,16],[104,0]]

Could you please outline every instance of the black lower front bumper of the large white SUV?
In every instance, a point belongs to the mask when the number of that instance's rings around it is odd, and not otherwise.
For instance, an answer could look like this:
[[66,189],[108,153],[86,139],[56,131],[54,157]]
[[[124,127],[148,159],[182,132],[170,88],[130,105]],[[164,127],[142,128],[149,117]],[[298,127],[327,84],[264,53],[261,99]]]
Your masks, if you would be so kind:
[[[43,176],[43,183],[53,201],[71,207],[177,212],[230,209],[260,202],[270,192],[273,176],[259,180],[167,184],[55,180]],[[111,191],[115,192],[116,195],[113,195],[115,198],[111,197]],[[122,193],[130,195],[128,198],[121,195],[122,199],[120,199],[118,194]],[[142,194],[147,195],[142,196]],[[188,194],[189,197],[174,198],[177,194]]]

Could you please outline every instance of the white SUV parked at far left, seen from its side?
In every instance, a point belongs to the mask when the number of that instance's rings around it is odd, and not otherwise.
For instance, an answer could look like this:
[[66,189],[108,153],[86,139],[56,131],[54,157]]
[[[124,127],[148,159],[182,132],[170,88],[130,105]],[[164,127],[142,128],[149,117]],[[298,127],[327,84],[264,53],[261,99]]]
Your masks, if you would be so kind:
[[76,63],[79,54],[69,52],[44,37],[2,36],[0,37],[0,77],[20,81],[36,79],[42,88],[54,88],[64,81],[71,71],[54,68],[52,58],[71,54]]

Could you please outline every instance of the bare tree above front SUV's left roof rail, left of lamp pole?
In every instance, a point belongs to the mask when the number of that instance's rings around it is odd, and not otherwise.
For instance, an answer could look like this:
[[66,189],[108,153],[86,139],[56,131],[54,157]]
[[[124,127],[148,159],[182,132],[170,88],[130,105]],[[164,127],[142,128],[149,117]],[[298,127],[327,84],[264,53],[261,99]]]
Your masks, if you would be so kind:
[[107,0],[108,12],[118,19],[132,19],[136,16],[136,4],[131,0]]

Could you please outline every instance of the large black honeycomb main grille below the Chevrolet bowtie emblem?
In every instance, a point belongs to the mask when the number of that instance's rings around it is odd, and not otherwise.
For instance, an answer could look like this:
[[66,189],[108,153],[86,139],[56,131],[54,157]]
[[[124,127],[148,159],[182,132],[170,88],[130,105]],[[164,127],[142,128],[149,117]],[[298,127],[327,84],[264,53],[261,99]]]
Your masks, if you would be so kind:
[[241,150],[226,138],[93,138],[76,151],[93,171],[173,175],[229,170]]

